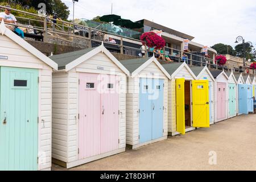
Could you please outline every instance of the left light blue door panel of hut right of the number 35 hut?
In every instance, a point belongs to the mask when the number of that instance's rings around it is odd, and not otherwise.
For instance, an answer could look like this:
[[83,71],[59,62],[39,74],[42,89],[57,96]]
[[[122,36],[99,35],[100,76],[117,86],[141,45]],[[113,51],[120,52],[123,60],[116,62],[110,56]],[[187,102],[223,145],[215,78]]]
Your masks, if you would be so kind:
[[139,86],[139,143],[152,139],[152,79],[140,78]]

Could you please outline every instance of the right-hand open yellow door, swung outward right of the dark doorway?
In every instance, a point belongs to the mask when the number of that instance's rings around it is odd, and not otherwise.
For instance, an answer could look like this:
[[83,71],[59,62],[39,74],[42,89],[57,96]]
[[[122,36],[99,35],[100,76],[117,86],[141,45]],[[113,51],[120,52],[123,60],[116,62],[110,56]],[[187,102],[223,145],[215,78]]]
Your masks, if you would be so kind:
[[192,81],[193,127],[210,127],[209,81]]

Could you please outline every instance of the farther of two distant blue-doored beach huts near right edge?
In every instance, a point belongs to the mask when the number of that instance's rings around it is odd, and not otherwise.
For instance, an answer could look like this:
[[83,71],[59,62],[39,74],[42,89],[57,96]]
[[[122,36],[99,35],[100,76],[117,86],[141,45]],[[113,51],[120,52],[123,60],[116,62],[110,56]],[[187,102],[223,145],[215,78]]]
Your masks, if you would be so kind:
[[243,80],[247,84],[247,111],[251,113],[254,111],[253,106],[253,82],[251,81],[250,75],[244,75]]

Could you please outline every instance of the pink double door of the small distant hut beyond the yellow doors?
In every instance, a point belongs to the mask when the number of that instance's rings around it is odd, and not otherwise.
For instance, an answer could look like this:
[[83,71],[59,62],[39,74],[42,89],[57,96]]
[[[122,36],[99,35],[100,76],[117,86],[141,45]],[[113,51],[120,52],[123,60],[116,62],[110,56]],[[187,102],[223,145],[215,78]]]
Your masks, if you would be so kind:
[[217,83],[217,120],[226,118],[226,84]]

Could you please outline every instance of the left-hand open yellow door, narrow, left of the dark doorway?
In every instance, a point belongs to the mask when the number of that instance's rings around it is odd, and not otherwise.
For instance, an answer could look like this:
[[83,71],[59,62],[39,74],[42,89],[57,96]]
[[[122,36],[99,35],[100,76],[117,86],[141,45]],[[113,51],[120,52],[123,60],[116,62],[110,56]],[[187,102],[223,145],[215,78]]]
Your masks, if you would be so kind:
[[185,79],[176,79],[176,126],[177,132],[185,134]]

